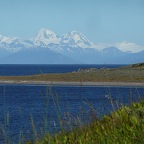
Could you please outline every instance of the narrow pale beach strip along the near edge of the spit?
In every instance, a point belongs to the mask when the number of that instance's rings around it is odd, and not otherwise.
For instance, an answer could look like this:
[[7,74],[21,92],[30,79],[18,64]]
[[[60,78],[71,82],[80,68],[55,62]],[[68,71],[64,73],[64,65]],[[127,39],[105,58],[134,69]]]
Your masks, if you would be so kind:
[[58,86],[144,86],[139,82],[66,82],[66,81],[14,81],[0,80],[0,84],[58,85]]

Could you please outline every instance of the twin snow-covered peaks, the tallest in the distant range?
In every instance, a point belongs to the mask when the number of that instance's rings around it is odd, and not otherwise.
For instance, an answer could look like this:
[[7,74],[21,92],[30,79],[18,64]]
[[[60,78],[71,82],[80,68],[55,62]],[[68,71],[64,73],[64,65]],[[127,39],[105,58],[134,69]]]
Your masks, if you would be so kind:
[[30,41],[37,46],[63,45],[81,48],[94,47],[94,44],[90,42],[82,33],[75,30],[62,36],[58,36],[53,31],[42,28],[30,39]]

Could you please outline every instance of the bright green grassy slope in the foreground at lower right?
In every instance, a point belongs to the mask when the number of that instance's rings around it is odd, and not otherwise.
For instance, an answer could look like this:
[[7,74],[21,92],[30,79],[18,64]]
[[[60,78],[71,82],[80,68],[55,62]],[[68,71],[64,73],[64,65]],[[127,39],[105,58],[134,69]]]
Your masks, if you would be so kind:
[[[32,144],[33,142],[27,142]],[[47,134],[37,144],[143,144],[144,143],[144,100],[123,106],[110,116],[94,120],[90,125],[70,132]]]

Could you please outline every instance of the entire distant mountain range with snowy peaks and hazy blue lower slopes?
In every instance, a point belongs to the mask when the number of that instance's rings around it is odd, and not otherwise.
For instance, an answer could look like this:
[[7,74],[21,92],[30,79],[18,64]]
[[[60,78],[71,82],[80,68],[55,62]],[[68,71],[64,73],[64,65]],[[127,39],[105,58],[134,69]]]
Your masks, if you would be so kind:
[[[125,49],[122,46],[129,46]],[[40,29],[29,40],[0,35],[0,64],[132,64],[144,62],[134,43],[97,45],[78,31],[62,36]]]

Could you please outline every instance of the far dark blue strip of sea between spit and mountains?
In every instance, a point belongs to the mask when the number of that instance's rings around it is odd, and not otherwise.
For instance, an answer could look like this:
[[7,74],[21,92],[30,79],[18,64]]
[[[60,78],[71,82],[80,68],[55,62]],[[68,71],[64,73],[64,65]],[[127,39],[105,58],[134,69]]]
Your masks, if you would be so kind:
[[0,76],[20,76],[41,73],[67,73],[79,68],[116,68],[124,65],[0,65]]

